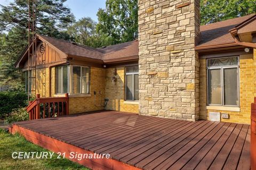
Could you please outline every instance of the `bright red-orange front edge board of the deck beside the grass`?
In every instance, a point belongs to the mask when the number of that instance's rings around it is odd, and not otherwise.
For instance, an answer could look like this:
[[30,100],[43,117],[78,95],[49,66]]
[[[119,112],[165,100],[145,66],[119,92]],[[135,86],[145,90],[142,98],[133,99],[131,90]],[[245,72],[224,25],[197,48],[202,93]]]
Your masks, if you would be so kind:
[[[17,124],[13,124],[9,128],[9,132],[11,134],[19,133],[23,137],[25,137],[26,140],[34,143],[35,145],[41,146],[45,149],[48,149],[50,151],[53,151],[55,153],[57,152],[66,152],[66,158],[69,159],[70,152],[77,152],[79,154],[94,154],[94,152],[76,147],[74,145],[70,145],[68,143],[59,141],[57,139],[47,137],[44,134],[37,133],[34,131],[31,131],[29,129],[23,128]],[[124,169],[124,170],[139,170],[140,168],[119,162],[115,159],[69,159],[73,162],[76,162],[78,164],[81,164],[83,166],[86,166],[91,169]]]

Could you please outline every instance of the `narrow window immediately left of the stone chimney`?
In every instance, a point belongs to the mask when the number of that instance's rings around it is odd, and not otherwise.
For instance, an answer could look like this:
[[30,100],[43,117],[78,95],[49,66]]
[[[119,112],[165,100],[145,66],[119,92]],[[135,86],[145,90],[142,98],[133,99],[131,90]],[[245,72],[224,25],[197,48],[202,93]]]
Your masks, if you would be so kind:
[[126,67],[125,69],[126,100],[139,100],[139,67]]

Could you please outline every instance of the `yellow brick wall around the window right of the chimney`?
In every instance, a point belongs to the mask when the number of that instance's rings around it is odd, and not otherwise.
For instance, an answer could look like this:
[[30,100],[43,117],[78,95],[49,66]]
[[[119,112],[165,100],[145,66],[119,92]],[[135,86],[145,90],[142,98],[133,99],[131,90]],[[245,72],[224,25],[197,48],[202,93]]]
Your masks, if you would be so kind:
[[228,113],[229,119],[221,118],[223,122],[246,123],[250,124],[251,103],[255,96],[255,69],[256,69],[256,52],[252,54],[239,56],[240,77],[240,112],[207,110],[207,90],[206,90],[206,59],[200,59],[200,118],[209,119],[209,112]]

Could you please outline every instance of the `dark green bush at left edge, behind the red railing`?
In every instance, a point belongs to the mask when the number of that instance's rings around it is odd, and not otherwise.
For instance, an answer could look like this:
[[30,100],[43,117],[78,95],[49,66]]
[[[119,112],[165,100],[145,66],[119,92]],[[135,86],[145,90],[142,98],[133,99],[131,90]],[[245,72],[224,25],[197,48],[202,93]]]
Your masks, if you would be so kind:
[[0,92],[0,118],[8,116],[13,109],[27,105],[27,94],[24,91],[3,91]]

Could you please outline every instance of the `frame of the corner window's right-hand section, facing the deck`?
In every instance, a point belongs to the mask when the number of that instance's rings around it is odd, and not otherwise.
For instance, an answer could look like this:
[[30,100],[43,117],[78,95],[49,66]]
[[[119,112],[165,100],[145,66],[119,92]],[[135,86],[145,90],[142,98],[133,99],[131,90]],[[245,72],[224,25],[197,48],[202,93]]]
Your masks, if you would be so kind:
[[[80,92],[78,94],[73,93],[73,67],[80,67]],[[87,87],[87,93],[82,93],[82,67],[88,68],[89,69],[89,82],[88,82],[88,87]],[[81,66],[81,65],[71,65],[71,89],[70,89],[70,94],[71,95],[87,95],[91,94],[91,68],[89,66]]]

